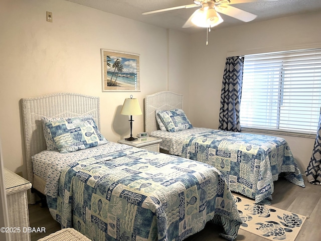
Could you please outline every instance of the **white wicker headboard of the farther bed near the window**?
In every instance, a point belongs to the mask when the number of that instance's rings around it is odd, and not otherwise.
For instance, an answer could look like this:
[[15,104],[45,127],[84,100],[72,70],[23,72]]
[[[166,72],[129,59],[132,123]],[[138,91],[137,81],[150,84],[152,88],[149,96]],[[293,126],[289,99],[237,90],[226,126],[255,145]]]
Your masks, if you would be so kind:
[[171,91],[161,91],[145,97],[145,132],[159,130],[155,110],[183,109],[183,95]]

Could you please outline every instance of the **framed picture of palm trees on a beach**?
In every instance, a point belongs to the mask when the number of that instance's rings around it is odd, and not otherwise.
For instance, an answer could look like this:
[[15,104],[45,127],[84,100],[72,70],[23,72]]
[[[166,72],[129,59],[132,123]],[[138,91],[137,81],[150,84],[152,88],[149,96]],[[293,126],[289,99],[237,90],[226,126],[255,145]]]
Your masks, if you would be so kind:
[[140,91],[139,55],[101,49],[102,91]]

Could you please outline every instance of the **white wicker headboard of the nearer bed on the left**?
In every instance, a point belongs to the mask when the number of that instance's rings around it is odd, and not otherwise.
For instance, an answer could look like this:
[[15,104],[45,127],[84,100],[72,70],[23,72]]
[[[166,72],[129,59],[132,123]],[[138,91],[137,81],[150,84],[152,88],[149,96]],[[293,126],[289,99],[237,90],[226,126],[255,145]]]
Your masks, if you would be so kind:
[[68,117],[92,114],[100,130],[99,97],[52,93],[22,99],[28,180],[33,183],[31,157],[46,149],[41,116]]

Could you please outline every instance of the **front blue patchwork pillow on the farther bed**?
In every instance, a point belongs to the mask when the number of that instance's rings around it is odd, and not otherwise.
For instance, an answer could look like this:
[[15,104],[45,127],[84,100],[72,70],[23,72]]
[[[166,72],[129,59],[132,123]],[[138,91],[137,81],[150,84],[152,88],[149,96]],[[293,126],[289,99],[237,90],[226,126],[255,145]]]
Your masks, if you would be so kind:
[[161,110],[157,113],[169,132],[179,132],[193,128],[182,109]]

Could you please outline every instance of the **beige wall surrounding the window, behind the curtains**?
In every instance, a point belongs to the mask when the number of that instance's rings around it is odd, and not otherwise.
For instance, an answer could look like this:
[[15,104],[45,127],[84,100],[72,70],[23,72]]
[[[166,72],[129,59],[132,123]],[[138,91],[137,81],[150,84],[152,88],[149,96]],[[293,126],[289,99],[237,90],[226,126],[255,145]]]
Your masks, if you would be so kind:
[[[226,56],[230,52],[249,54],[273,52],[300,47],[321,47],[321,12],[248,23],[238,27],[217,29],[209,34],[191,36],[195,62],[190,81],[190,119],[193,125],[217,129],[222,76]],[[201,108],[201,106],[204,106]],[[200,117],[201,116],[201,117]],[[261,133],[264,134],[264,133]],[[313,139],[281,136],[290,145],[301,172],[311,157]]]

